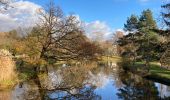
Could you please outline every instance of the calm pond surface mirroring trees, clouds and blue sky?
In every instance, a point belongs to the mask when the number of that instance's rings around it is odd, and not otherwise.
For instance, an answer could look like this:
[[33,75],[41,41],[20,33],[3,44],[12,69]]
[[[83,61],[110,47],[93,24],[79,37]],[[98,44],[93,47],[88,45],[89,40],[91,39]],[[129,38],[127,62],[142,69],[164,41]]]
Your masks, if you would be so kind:
[[[170,86],[120,71],[116,63],[63,64],[35,80],[0,91],[0,100],[162,100]],[[169,100],[169,99],[168,99]]]

